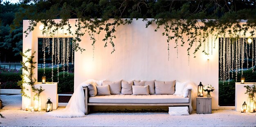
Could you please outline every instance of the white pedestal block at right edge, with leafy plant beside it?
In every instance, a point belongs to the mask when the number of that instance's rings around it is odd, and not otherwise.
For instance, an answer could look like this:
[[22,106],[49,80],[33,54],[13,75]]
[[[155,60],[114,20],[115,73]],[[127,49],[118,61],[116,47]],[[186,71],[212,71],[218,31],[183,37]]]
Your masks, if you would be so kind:
[[[247,103],[248,94],[245,94],[246,88],[244,88],[245,85],[252,86],[256,83],[238,83],[236,82],[236,97],[235,97],[235,107],[236,111],[241,111],[241,107],[243,103]],[[248,105],[248,104],[247,104]]]

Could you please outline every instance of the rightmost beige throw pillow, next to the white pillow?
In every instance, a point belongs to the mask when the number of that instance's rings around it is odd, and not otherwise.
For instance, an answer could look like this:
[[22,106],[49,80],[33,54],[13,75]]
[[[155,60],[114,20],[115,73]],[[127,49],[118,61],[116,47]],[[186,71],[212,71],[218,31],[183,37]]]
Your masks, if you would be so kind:
[[156,94],[174,94],[175,80],[173,81],[155,81]]

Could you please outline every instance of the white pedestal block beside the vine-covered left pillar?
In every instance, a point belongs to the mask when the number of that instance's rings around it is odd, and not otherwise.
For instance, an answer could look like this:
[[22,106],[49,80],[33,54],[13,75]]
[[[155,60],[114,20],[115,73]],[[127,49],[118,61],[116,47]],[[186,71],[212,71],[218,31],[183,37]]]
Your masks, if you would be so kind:
[[[47,98],[51,98],[52,109],[58,108],[58,83],[35,83],[35,88],[42,86],[44,91],[40,94],[41,109],[45,109],[45,103],[48,101]],[[34,93],[33,93],[34,94]],[[33,96],[31,97],[31,105],[34,105]]]

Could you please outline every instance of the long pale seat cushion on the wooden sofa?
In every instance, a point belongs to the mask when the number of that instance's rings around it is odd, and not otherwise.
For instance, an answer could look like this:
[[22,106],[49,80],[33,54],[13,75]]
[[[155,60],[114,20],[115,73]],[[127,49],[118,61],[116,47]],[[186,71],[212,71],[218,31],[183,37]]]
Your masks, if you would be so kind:
[[173,94],[105,95],[89,97],[89,103],[189,103],[189,98]]

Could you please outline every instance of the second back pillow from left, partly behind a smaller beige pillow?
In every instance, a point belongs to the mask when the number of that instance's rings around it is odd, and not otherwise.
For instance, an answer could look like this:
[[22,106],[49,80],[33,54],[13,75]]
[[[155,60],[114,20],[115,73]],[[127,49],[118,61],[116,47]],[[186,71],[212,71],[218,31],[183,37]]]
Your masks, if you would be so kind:
[[109,85],[110,94],[121,94],[121,80],[120,81],[103,81],[102,85]]

